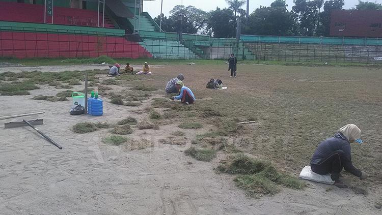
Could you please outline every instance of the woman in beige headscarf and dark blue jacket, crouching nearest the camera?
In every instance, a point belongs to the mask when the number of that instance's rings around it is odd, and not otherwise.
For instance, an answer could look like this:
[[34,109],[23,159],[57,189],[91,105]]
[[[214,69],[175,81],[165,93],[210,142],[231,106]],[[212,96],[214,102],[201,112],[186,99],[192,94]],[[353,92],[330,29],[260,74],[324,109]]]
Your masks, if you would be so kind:
[[317,174],[331,173],[334,185],[339,188],[347,188],[340,177],[342,169],[351,174],[366,179],[368,174],[353,166],[351,163],[350,143],[363,143],[361,130],[353,124],[348,124],[338,130],[333,137],[322,141],[315,150],[310,166]]

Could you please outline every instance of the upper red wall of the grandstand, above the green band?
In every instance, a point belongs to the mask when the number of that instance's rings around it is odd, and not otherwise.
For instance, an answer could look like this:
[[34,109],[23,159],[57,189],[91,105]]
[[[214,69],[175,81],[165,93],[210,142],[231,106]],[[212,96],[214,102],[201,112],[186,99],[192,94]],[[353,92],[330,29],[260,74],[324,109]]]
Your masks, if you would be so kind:
[[[76,8],[53,8],[53,24],[97,27],[96,11]],[[51,17],[46,17],[51,22]],[[44,6],[24,3],[1,2],[0,20],[15,22],[44,23]],[[100,23],[102,20],[100,20]],[[105,23],[105,27],[114,27]]]

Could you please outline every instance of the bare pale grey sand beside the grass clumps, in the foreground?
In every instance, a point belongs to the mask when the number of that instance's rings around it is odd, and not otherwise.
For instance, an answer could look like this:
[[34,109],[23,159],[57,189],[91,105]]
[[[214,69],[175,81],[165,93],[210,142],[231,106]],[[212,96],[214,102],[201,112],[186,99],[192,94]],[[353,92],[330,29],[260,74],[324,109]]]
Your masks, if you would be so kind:
[[[304,191],[283,189],[275,196],[248,198],[231,175],[215,173],[219,158],[197,161],[182,152],[188,144],[158,143],[176,125],[134,130],[132,139],[152,143],[141,150],[102,143],[108,129],[75,134],[70,128],[80,121],[142,119],[146,115],[135,111],[148,104],[124,107],[105,99],[104,115],[94,117],[70,116],[71,101],[30,100],[58,91],[44,87],[30,96],[0,97],[0,116],[44,111],[25,118],[43,118],[38,128],[63,146],[59,150],[29,127],[0,129],[1,214],[381,214],[374,207],[380,188],[364,196],[308,182]],[[1,120],[0,126],[19,120]],[[194,135],[187,133],[187,138]]]

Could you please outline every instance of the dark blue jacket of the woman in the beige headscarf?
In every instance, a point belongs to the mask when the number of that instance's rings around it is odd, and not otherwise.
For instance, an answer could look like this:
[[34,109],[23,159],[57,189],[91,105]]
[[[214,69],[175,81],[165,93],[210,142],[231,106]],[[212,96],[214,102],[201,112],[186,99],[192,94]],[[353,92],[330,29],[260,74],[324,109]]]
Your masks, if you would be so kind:
[[341,133],[322,141],[314,151],[311,164],[318,164],[336,150],[343,150],[345,157],[351,162],[350,143]]

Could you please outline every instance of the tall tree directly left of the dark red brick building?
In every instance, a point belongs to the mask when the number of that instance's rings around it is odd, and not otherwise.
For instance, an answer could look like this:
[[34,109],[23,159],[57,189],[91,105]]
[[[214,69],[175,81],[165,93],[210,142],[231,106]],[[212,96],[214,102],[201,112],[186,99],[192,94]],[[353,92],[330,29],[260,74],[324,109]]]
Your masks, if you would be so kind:
[[330,0],[324,3],[323,11],[319,14],[320,23],[317,27],[318,36],[330,36],[330,17],[332,11],[341,10],[344,5],[344,0]]

